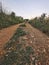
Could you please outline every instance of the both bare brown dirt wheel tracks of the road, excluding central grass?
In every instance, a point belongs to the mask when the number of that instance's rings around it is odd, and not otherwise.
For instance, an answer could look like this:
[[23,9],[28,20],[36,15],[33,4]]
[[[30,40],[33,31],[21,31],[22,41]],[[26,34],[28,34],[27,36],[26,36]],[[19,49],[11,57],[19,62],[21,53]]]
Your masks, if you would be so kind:
[[[29,23],[25,24],[25,31],[29,33],[26,35],[26,41],[33,47],[37,57],[39,57],[39,64],[37,63],[37,65],[49,65],[49,37],[32,27]],[[18,27],[19,24],[0,30],[0,51],[3,50],[5,43],[9,41]]]

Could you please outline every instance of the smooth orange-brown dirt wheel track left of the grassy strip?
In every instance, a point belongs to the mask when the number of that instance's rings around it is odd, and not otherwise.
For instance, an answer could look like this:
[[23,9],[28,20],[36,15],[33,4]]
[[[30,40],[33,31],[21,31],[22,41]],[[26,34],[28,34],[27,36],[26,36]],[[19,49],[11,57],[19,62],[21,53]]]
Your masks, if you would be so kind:
[[9,39],[13,36],[18,26],[19,24],[0,30],[0,51],[2,51],[5,43],[8,42]]

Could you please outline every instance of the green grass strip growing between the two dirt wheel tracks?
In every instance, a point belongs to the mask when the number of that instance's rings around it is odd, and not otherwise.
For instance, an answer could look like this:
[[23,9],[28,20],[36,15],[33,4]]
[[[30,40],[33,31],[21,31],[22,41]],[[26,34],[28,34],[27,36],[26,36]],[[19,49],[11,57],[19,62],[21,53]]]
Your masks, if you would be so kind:
[[[24,35],[26,35],[26,32],[22,28],[18,28],[15,31],[14,36],[5,45],[6,54],[1,65],[31,65],[31,63],[34,63],[33,48],[31,46],[24,48],[24,44],[16,42],[20,36]],[[32,60],[32,58],[34,59]]]

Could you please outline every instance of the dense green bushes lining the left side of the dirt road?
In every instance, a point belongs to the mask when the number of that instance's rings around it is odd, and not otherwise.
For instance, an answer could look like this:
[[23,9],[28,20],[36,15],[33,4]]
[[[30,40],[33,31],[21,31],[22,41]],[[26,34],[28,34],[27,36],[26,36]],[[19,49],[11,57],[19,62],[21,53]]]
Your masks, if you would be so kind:
[[16,16],[14,12],[11,12],[11,14],[0,12],[0,29],[22,23],[23,21],[23,18],[21,16]]

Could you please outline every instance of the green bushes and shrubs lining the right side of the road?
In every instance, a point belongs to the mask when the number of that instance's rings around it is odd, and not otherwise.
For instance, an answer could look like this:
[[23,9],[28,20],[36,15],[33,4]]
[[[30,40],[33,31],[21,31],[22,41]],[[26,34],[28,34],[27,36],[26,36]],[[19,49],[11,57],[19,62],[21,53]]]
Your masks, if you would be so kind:
[[43,13],[40,17],[31,19],[29,23],[49,36],[49,16]]

